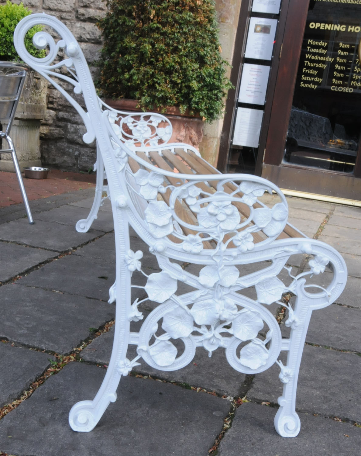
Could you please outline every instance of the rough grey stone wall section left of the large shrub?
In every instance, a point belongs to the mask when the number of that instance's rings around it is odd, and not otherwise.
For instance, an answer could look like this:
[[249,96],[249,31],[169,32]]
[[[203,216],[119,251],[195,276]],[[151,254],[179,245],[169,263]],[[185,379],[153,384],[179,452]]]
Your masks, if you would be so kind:
[[[20,3],[20,0],[12,0]],[[0,4],[5,1],[0,0]],[[45,12],[56,16],[72,31],[92,68],[101,48],[101,38],[95,25],[106,11],[102,0],[23,0],[33,13]],[[82,135],[83,122],[67,100],[49,83],[46,117],[41,121],[40,150],[42,165],[62,170],[88,171],[95,162],[95,143],[86,145]]]

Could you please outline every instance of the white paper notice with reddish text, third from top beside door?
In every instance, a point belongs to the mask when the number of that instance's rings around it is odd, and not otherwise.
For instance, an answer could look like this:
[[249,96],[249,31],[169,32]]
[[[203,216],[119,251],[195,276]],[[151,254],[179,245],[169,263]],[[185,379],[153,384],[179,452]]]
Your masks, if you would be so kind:
[[245,63],[243,65],[238,101],[240,103],[264,104],[269,68],[266,65]]

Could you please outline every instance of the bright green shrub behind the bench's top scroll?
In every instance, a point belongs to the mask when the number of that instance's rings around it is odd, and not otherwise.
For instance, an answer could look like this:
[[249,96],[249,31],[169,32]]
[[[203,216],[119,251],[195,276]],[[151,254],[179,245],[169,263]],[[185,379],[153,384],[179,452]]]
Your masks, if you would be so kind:
[[[29,14],[31,14],[31,10],[28,10],[22,3],[16,5],[8,0],[5,5],[0,5],[0,60],[20,61],[14,47],[14,31],[18,22]],[[41,30],[41,26],[32,27],[25,37],[26,49],[35,57],[45,57],[45,51],[36,49],[32,44],[32,37]]]

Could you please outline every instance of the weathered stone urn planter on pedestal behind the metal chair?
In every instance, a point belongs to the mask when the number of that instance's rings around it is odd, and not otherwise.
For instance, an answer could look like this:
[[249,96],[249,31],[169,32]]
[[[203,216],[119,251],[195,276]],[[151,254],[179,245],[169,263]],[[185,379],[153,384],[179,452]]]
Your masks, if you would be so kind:
[[[41,166],[40,121],[46,116],[46,93],[46,79],[30,70],[10,131],[21,170],[26,166]],[[1,155],[0,171],[14,172],[10,154]]]

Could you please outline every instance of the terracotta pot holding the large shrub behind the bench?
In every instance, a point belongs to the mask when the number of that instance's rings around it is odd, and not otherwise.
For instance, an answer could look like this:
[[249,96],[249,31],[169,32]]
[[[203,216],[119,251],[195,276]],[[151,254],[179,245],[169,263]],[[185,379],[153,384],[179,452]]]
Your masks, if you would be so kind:
[[[128,98],[119,98],[117,100],[105,99],[104,102],[113,109],[127,112],[140,112],[137,100]],[[150,112],[159,112],[170,120],[173,128],[173,134],[168,142],[182,142],[192,145],[199,150],[199,143],[203,138],[204,122],[201,117],[190,115],[188,111],[180,113],[176,106],[167,107],[165,112],[160,109],[150,109]]]

